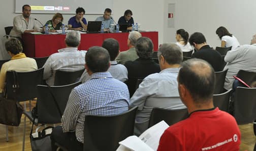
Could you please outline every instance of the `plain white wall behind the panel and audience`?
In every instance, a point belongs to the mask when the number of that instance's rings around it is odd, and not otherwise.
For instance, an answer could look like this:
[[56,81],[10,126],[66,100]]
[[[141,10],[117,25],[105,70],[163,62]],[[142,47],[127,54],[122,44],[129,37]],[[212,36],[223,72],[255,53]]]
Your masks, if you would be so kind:
[[[168,3],[175,3],[175,28],[167,28]],[[215,47],[220,45],[220,40],[215,34],[219,26],[225,26],[238,38],[240,44],[250,43],[251,36],[256,33],[254,6],[256,6],[255,0],[247,0],[246,3],[233,0],[113,0],[112,16],[117,21],[126,9],[131,9],[135,22],[141,23],[142,30],[158,31],[159,44],[175,42],[175,31],[184,28],[189,34],[202,32],[207,42]],[[4,39],[2,38],[5,34],[4,27],[12,25],[13,18],[18,15],[14,13],[14,8],[14,0],[2,1],[1,41]],[[31,16],[44,24],[52,18],[53,14],[31,14]],[[67,24],[72,16],[64,15],[64,23]],[[85,18],[90,21],[98,16],[85,15]],[[0,51],[3,51],[2,42],[0,42]]]

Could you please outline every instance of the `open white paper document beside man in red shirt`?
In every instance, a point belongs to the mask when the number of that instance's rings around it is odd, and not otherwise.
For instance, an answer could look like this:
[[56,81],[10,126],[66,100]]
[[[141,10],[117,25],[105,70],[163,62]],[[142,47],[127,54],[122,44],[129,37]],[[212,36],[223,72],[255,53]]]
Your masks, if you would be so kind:
[[119,142],[120,146],[116,151],[127,151],[127,150],[157,150],[159,140],[164,131],[169,127],[165,121],[161,121],[154,126],[147,129],[139,137],[133,135]]

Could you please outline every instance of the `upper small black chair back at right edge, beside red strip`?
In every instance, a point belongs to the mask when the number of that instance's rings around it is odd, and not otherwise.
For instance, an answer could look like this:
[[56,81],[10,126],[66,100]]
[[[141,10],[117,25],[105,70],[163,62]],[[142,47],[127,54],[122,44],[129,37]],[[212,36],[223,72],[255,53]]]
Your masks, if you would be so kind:
[[256,80],[256,72],[239,70],[237,73],[237,77],[250,85],[254,80]]

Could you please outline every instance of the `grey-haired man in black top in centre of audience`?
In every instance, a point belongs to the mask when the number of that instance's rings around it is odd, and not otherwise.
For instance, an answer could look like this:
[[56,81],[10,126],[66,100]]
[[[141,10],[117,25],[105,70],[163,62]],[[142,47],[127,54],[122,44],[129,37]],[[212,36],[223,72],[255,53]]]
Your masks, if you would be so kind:
[[160,72],[160,67],[152,60],[153,43],[148,37],[140,37],[136,44],[136,52],[139,56],[135,61],[127,61],[124,66],[128,70],[127,86],[130,95],[135,92],[137,79],[144,79],[152,73]]

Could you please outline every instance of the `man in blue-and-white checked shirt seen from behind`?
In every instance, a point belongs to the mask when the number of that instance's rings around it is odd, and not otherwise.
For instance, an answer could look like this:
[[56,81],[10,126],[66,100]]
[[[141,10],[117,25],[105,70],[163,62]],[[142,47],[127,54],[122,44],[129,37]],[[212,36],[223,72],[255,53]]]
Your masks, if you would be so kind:
[[91,78],[71,91],[61,119],[62,126],[52,131],[53,150],[56,150],[55,142],[67,150],[83,150],[83,143],[86,143],[83,140],[86,115],[112,116],[124,113],[129,108],[127,86],[107,72],[110,67],[108,51],[99,46],[90,47],[85,60],[85,68]]

